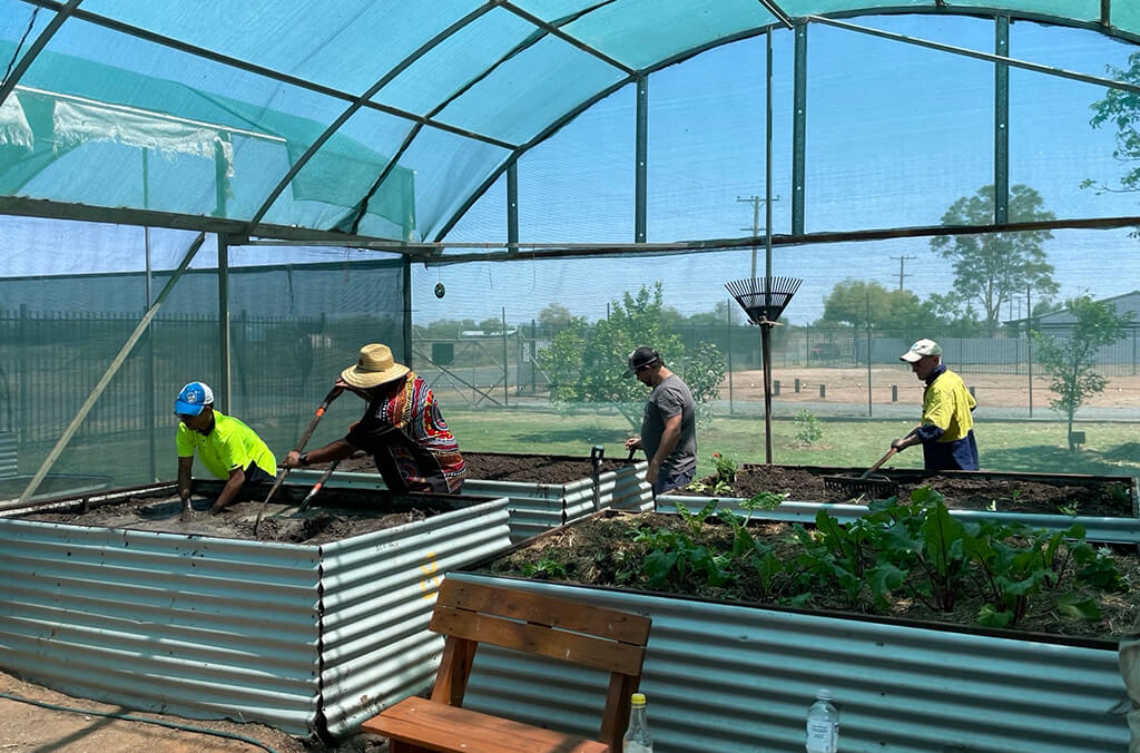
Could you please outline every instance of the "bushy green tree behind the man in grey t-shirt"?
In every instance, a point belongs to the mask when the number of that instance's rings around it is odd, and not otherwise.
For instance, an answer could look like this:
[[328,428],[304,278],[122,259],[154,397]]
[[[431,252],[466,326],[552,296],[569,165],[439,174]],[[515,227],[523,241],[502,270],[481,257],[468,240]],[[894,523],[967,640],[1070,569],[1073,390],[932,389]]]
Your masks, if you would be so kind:
[[[677,372],[693,391],[693,399],[707,403],[724,379],[724,359],[708,343],[690,358],[681,338],[668,325],[661,283],[652,290],[643,285],[636,295],[626,292],[610,305],[609,318],[594,324],[575,318],[537,354],[539,367],[551,379],[554,403],[606,403],[616,406],[632,427],[641,426],[641,403],[645,387],[622,378],[629,353],[652,346],[666,365]],[[711,387],[709,387],[711,384]]]

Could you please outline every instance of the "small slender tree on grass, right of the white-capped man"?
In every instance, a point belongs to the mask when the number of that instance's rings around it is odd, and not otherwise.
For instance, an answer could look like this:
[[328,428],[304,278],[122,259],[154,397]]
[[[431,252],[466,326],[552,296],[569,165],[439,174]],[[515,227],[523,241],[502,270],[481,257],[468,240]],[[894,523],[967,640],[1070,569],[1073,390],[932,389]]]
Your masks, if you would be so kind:
[[[1130,316],[1118,316],[1112,303],[1094,301],[1081,295],[1068,301],[1067,308],[1075,317],[1067,337],[1033,332],[1037,346],[1037,361],[1052,376],[1049,389],[1057,396],[1049,406],[1068,416],[1068,435],[1073,434],[1073,416],[1085,398],[1104,391],[1108,383],[1098,374],[1097,350],[1124,337]],[[1074,445],[1069,440],[1069,452]]]

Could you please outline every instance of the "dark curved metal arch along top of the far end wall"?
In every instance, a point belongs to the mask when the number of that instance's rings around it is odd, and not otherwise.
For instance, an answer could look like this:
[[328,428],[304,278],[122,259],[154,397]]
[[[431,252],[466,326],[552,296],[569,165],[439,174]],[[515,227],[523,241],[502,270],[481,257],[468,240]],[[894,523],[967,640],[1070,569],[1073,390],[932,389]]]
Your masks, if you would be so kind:
[[[999,17],[1008,17],[1008,18],[1013,18],[1013,19],[1019,19],[1019,21],[1029,21],[1029,22],[1034,22],[1034,23],[1043,23],[1043,24],[1049,24],[1049,25],[1053,25],[1053,26],[1065,26],[1065,27],[1072,27],[1072,29],[1084,29],[1084,30],[1088,30],[1088,31],[1094,31],[1097,33],[1104,34],[1104,35],[1109,37],[1109,38],[1121,39],[1121,40],[1127,41],[1127,42],[1133,43],[1133,44],[1140,44],[1140,34],[1132,34],[1132,33],[1127,33],[1127,32],[1121,32],[1121,31],[1112,27],[1107,23],[1107,19],[1108,19],[1107,5],[1102,6],[1104,13],[1102,13],[1102,17],[1101,17],[1100,22],[1097,22],[1097,23],[1086,23],[1086,22],[1078,22],[1078,21],[1075,21],[1075,19],[1072,19],[1072,18],[1064,18],[1064,17],[1058,17],[1058,16],[1048,15],[1048,14],[1033,14],[1033,13],[1023,13],[1023,11],[1013,13],[1013,11],[1010,11],[1009,9],[1001,9],[1001,8],[996,8],[996,7],[994,7],[994,8],[948,8],[948,7],[943,6],[940,3],[940,0],[931,0],[931,1],[933,2],[937,2],[937,5],[936,6],[931,6],[929,8],[921,8],[921,7],[920,8],[915,8],[913,6],[902,6],[902,7],[901,6],[869,6],[866,8],[848,9],[848,10],[844,10],[844,11],[839,11],[839,13],[831,13],[831,14],[820,15],[820,16],[815,16],[814,18],[817,22],[826,22],[826,21],[839,19],[839,18],[853,18],[853,17],[861,17],[861,16],[881,16],[881,15],[935,15],[935,16],[953,15],[953,16],[963,16],[963,17],[982,17],[982,18],[987,18],[987,19],[996,19]],[[1110,3],[1112,2],[1112,0],[1102,0],[1102,1],[1105,3]],[[806,24],[808,24],[811,22],[811,19],[812,19],[812,17],[809,17],[809,16],[797,16],[796,18],[792,19],[792,22],[793,22],[793,25],[799,26],[799,25],[806,25]],[[440,228],[440,230],[435,234],[435,237],[434,237],[433,242],[441,243],[443,241],[443,238],[447,236],[447,234],[450,233],[451,229],[455,227],[455,225],[459,221],[459,219],[462,219],[463,216],[467,212],[467,210],[470,210],[471,207],[474,205],[474,203],[477,201],[479,201],[479,199],[482,197],[482,195],[484,193],[487,193],[487,191],[490,189],[490,187],[492,185],[495,185],[495,181],[498,180],[499,176],[502,176],[510,165],[512,165],[512,164],[514,164],[514,163],[518,162],[519,157],[521,157],[528,151],[530,151],[531,148],[534,148],[538,144],[543,143],[544,140],[546,140],[547,138],[549,138],[551,136],[553,136],[554,133],[556,133],[559,130],[562,129],[563,126],[565,126],[567,123],[569,123],[570,121],[572,121],[573,119],[576,119],[578,115],[580,115],[585,111],[587,111],[591,107],[593,107],[595,104],[597,104],[598,102],[601,102],[605,97],[609,97],[611,94],[613,94],[614,91],[618,91],[622,87],[628,86],[629,83],[635,82],[637,80],[638,75],[649,75],[649,74],[654,73],[657,71],[660,71],[662,68],[669,67],[670,65],[675,65],[677,63],[682,63],[684,60],[687,60],[687,59],[690,59],[692,57],[695,57],[697,55],[700,55],[702,52],[707,52],[708,50],[716,49],[717,47],[723,47],[725,44],[731,44],[733,42],[738,42],[738,41],[741,41],[741,40],[744,40],[744,39],[751,39],[751,38],[755,38],[755,37],[759,37],[760,34],[767,33],[768,30],[774,29],[774,27],[776,27],[779,25],[780,24],[772,23],[772,24],[765,24],[763,26],[756,26],[754,29],[749,29],[749,30],[735,32],[733,34],[723,37],[720,39],[716,39],[716,40],[712,40],[712,41],[709,41],[709,42],[705,42],[702,44],[699,44],[699,46],[693,47],[691,49],[684,50],[682,52],[677,52],[675,55],[669,56],[668,58],[665,58],[662,60],[659,60],[658,63],[654,63],[651,66],[646,66],[645,68],[643,68],[640,72],[636,72],[634,74],[630,74],[630,75],[626,76],[625,79],[622,79],[622,80],[620,80],[620,81],[618,81],[618,82],[616,82],[616,83],[606,87],[605,89],[598,91],[593,97],[589,97],[589,98],[585,99],[580,105],[578,105],[573,110],[568,111],[562,118],[557,119],[556,121],[553,121],[547,128],[543,129],[543,131],[540,131],[535,138],[530,139],[526,144],[519,145],[514,149],[514,152],[506,160],[504,160],[503,163],[499,164],[498,168],[496,168],[491,173],[489,173],[488,177],[487,177],[487,179],[482,184],[480,184],[480,186],[474,192],[472,192],[471,196],[467,197],[467,200],[459,207],[459,209],[457,209],[451,214],[451,217],[447,220],[447,222],[445,222],[443,226]],[[834,24],[834,25],[842,26],[844,24]],[[882,37],[891,37],[889,33],[883,33],[883,34],[880,34],[880,35],[882,35]],[[997,57],[997,56],[979,55],[979,57],[994,58],[994,57]],[[1018,60],[1010,60],[1009,62],[1009,64],[1011,64],[1011,65],[1017,65],[1020,62],[1018,62]],[[1021,65],[1021,67],[1028,67],[1031,70],[1036,70],[1039,72],[1044,72],[1044,73],[1049,73],[1049,74],[1059,74],[1058,72],[1060,72],[1060,68],[1052,68],[1052,70],[1050,70],[1049,66]],[[1070,72],[1064,72],[1064,73],[1065,74],[1069,74]],[[1085,80],[1086,82],[1090,81],[1091,79],[1097,79],[1096,83],[1099,84],[1099,86],[1108,86],[1109,84],[1109,82],[1107,80],[1098,79],[1097,76],[1082,76],[1081,74],[1072,74],[1072,75],[1068,75],[1067,78],[1073,78],[1073,79],[1077,79],[1077,80]],[[1126,82],[1112,82],[1112,83],[1116,83],[1117,84],[1116,88],[1122,88],[1122,89],[1126,89],[1126,90],[1133,90],[1135,88],[1133,84],[1129,84]]]

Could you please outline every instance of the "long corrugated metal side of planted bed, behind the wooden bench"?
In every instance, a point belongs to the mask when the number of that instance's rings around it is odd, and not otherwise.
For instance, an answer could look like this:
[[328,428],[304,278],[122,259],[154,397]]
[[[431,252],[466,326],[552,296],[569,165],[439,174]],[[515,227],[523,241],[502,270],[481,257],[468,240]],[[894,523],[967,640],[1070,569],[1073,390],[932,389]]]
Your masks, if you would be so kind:
[[[660,753],[801,753],[819,688],[845,753],[1106,753],[1127,746],[1115,643],[1044,643],[453,573],[648,615],[642,690]],[[557,679],[552,681],[551,678]],[[562,679],[569,679],[564,688]],[[588,691],[588,693],[587,693]],[[464,706],[595,735],[605,682],[480,647]]]

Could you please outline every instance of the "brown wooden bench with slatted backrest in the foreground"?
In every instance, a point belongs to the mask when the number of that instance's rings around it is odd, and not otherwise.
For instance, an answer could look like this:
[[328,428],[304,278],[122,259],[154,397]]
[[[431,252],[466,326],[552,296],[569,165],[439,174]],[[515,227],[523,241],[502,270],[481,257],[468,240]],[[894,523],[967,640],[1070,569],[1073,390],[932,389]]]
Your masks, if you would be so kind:
[[[447,637],[431,699],[413,697],[363,724],[391,753],[619,753],[629,696],[641,681],[650,620],[519,591],[447,578],[431,630]],[[492,643],[610,673],[597,740],[463,709],[479,643]],[[553,679],[553,678],[552,678]],[[552,693],[557,693],[556,683]]]

